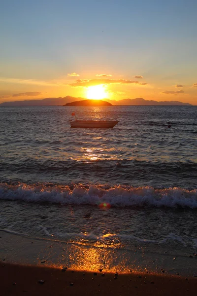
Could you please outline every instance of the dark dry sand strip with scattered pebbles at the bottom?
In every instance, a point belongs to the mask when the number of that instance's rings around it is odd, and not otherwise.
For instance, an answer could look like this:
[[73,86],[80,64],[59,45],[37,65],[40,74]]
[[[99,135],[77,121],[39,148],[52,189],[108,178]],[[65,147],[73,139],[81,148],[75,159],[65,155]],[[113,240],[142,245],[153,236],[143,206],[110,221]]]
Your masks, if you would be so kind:
[[[38,281],[43,280],[44,283]],[[83,272],[0,262],[0,296],[197,295],[197,278],[155,274]]]

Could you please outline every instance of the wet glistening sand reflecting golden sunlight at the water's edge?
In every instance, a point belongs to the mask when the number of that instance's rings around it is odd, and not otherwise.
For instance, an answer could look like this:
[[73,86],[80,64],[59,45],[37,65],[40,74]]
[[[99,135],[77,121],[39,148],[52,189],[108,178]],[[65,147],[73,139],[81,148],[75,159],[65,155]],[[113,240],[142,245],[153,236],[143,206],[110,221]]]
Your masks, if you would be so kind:
[[130,249],[120,243],[113,248],[105,247],[102,240],[86,245],[82,241],[58,241],[45,238],[33,238],[0,231],[0,261],[4,264],[33,265],[62,268],[69,270],[103,272],[181,275],[193,277],[197,273],[197,257],[193,253],[184,253],[165,246],[149,245],[140,242]]

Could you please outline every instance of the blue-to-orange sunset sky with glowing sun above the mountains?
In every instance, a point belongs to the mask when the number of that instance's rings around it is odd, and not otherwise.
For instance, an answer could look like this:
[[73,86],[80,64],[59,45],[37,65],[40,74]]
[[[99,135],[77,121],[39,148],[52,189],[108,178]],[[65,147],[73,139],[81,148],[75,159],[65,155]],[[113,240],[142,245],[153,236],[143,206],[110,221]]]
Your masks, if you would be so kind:
[[196,0],[2,0],[0,103],[100,95],[197,105],[196,28]]

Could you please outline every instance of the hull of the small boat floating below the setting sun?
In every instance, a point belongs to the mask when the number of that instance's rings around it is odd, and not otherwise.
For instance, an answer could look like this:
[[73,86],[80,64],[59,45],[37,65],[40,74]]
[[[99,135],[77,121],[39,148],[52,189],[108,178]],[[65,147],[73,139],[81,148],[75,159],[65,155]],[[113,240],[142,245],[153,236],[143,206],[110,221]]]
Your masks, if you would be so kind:
[[83,127],[83,128],[112,128],[119,120],[70,120],[70,127]]

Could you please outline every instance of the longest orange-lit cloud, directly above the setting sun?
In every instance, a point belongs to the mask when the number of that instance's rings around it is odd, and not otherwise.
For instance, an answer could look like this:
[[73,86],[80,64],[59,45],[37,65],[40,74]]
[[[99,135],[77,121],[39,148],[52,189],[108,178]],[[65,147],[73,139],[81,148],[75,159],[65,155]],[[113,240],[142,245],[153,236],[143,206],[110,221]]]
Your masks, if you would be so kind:
[[71,86],[94,86],[99,84],[142,84],[145,85],[147,83],[139,83],[138,81],[131,81],[131,80],[125,80],[125,79],[77,79],[74,81],[74,83],[71,83],[69,85]]

